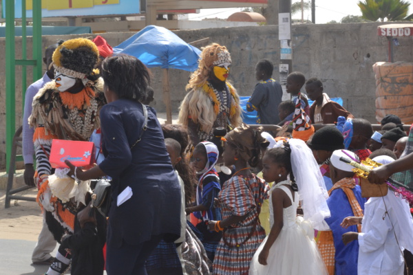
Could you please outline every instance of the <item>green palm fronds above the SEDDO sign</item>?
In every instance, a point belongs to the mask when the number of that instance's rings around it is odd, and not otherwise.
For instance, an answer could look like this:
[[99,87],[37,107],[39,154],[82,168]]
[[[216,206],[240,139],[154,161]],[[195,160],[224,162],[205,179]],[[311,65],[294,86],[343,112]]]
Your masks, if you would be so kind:
[[412,17],[412,14],[407,17],[410,3],[404,0],[364,0],[357,5],[363,18],[370,21],[403,21]]

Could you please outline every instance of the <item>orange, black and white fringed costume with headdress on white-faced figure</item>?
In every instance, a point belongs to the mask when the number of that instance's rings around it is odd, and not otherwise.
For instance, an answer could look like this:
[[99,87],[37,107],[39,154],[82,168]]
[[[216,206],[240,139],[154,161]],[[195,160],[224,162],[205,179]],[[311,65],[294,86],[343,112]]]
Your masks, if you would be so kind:
[[[78,47],[81,50],[76,52]],[[48,181],[52,172],[49,162],[50,146],[53,139],[87,141],[92,132],[100,127],[98,113],[105,102],[103,80],[99,77],[98,70],[93,69],[98,61],[98,49],[92,41],[65,41],[56,48],[52,59],[56,71],[75,78],[76,83],[81,81],[83,89],[76,94],[59,91],[60,85],[52,80],[34,96],[29,124],[35,128],[33,141],[37,162],[36,184],[39,188],[36,201],[42,210],[52,212],[54,219],[65,230],[73,232],[76,202],[63,203],[58,197],[52,196],[47,201],[47,209],[43,209],[41,203],[45,195],[51,193]],[[90,61],[91,64],[82,68],[78,62],[84,61]],[[48,207],[49,202],[53,211]],[[56,235],[55,238],[59,239]]]

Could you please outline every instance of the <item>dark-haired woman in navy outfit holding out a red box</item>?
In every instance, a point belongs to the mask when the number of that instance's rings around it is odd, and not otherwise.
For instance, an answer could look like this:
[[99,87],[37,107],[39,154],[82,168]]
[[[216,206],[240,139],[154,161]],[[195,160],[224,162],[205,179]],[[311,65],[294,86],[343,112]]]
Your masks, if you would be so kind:
[[[100,111],[105,160],[85,171],[67,165],[80,180],[112,177],[107,274],[146,274],[145,261],[158,242],[180,235],[180,186],[156,112],[140,103],[149,86],[145,65],[133,56],[114,56],[103,61],[101,75],[107,100]],[[122,192],[131,197],[121,200]]]

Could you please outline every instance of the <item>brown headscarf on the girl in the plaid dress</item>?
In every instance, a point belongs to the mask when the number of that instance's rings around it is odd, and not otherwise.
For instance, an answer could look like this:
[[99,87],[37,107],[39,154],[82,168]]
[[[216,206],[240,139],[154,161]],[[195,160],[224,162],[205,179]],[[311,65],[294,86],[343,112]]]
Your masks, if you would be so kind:
[[269,142],[262,137],[262,127],[252,129],[242,124],[225,135],[226,142],[233,144],[243,159],[255,167],[260,159],[260,149],[266,148]]

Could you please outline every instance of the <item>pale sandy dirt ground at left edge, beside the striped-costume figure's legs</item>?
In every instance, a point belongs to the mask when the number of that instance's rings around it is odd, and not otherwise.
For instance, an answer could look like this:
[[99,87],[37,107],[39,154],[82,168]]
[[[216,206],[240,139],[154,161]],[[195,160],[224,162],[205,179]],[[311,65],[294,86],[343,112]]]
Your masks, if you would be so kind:
[[[20,192],[19,195],[36,197],[37,188]],[[6,190],[0,190],[0,239],[37,241],[41,230],[42,215],[39,204],[33,201],[12,200],[10,208],[4,208]]]

